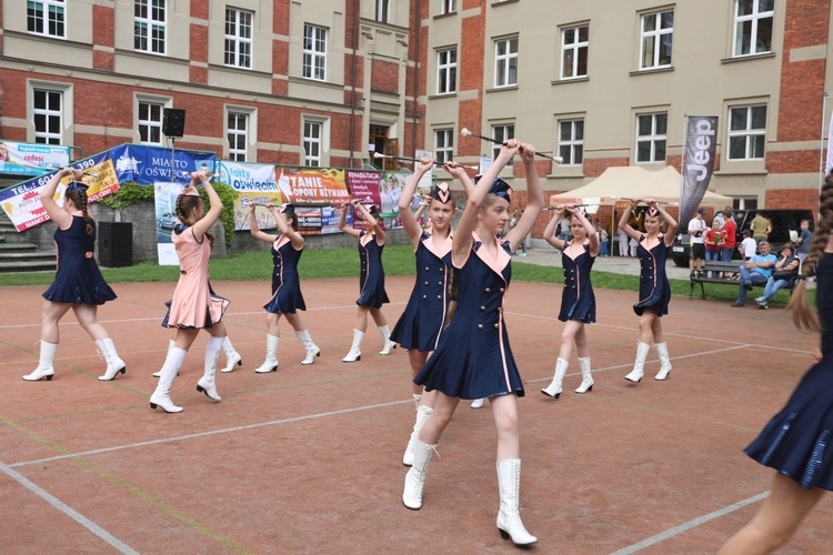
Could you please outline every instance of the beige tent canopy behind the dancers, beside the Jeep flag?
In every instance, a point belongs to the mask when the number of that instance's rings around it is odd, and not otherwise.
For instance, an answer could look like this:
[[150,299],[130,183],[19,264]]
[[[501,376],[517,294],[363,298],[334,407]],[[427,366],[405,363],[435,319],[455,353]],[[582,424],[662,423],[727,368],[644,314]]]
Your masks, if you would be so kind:
[[[680,204],[680,172],[671,165],[649,171],[639,165],[608,168],[604,173],[579,189],[550,199],[550,204],[582,203],[612,206],[631,199],[653,199],[656,202]],[[700,205],[723,208],[732,205],[732,198],[706,191]]]

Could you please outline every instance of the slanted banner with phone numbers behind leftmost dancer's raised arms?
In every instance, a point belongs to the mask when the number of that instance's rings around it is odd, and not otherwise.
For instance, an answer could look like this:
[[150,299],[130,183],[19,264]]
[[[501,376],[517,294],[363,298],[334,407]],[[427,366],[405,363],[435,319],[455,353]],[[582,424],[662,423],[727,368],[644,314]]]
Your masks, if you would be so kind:
[[[119,190],[119,181],[109,152],[76,162],[72,168],[88,175],[88,202],[96,202]],[[0,191],[0,205],[18,231],[26,231],[50,220],[40,202],[40,191],[56,173],[58,172],[51,171]],[[56,190],[54,200],[59,206],[63,206],[63,192],[72,179],[71,175],[63,178]]]

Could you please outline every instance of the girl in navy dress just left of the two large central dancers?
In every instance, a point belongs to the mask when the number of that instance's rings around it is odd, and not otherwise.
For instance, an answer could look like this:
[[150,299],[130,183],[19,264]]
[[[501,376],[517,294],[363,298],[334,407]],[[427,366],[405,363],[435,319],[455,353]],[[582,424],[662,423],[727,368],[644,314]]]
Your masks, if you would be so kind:
[[397,344],[391,341],[391,332],[388,329],[388,320],[382,314],[382,304],[389,303],[388,293],[384,292],[384,268],[382,266],[382,250],[384,249],[384,230],[379,226],[379,211],[370,206],[365,209],[359,201],[351,200],[353,216],[362,219],[363,229],[355,230],[347,224],[348,204],[341,206],[339,216],[339,229],[355,238],[359,238],[359,259],[361,260],[361,274],[359,276],[359,305],[355,329],[353,330],[353,345],[342,362],[355,362],[361,360],[361,344],[364,332],[368,331],[368,313],[373,317],[379,333],[384,340],[384,346],[379,354],[390,354]]

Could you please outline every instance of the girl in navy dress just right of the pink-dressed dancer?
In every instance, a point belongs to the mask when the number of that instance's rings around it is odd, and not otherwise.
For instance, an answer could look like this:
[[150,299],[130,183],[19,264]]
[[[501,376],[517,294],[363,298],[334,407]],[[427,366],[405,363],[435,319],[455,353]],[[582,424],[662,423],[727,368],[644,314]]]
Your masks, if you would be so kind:
[[263,306],[267,314],[267,359],[254,372],[268,373],[278,370],[278,342],[280,329],[278,323],[281,316],[287,316],[287,322],[295,331],[298,341],[303,345],[307,356],[301,364],[312,364],[321,350],[312,342],[310,332],[303,325],[298,311],[305,311],[307,304],[301,294],[301,281],[298,278],[298,261],[303,254],[303,236],[298,232],[298,218],[292,204],[283,204],[275,209],[267,204],[278,224],[280,235],[270,235],[258,229],[257,206],[249,205],[249,230],[252,236],[272,245],[272,299]]

